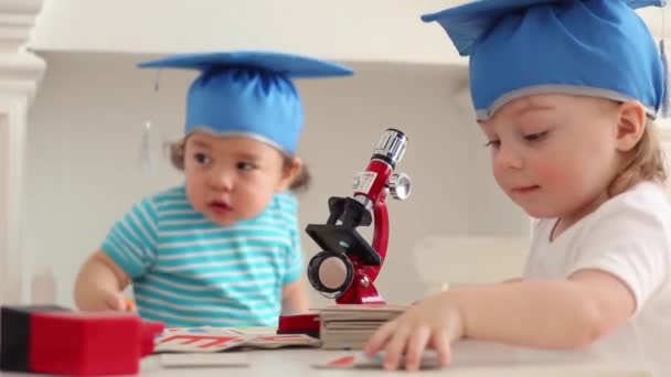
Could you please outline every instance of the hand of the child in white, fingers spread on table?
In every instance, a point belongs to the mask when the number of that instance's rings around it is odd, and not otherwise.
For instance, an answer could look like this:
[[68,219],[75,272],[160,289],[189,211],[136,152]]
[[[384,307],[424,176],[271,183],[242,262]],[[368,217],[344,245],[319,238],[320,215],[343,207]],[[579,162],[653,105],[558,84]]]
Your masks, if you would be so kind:
[[385,369],[396,369],[405,353],[405,368],[417,370],[422,353],[428,345],[438,352],[440,366],[446,366],[451,358],[450,344],[462,335],[461,312],[445,292],[416,303],[403,315],[380,327],[369,340],[365,353],[372,357],[384,349]]

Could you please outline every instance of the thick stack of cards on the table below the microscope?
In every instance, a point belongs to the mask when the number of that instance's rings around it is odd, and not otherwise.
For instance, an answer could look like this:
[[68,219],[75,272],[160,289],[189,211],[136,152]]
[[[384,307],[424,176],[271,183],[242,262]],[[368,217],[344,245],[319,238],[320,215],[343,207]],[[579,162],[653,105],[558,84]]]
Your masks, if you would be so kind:
[[341,304],[321,310],[319,337],[324,349],[362,349],[385,322],[405,305]]

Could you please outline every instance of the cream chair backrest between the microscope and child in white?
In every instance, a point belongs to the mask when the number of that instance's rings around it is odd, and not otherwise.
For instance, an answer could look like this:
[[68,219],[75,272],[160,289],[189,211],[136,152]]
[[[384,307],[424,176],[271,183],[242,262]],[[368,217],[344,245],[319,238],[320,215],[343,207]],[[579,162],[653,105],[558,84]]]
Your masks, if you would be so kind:
[[519,278],[524,269],[525,237],[430,236],[413,248],[427,293],[448,286]]

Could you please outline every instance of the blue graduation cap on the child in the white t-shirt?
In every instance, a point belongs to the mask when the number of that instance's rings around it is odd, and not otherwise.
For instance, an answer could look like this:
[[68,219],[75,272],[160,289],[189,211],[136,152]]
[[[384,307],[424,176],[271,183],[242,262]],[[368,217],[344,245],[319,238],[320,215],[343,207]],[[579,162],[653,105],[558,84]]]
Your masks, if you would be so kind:
[[470,56],[478,120],[514,98],[564,93],[639,100],[653,117],[665,73],[633,9],[663,0],[478,0],[425,14]]

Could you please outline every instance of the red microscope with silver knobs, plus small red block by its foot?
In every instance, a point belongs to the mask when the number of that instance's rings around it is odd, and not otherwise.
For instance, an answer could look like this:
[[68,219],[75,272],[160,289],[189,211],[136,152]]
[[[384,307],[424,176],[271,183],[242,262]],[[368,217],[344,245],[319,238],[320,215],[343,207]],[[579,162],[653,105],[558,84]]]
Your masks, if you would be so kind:
[[[366,170],[354,177],[353,196],[330,197],[327,223],[309,224],[306,228],[322,249],[308,263],[308,280],[322,295],[336,299],[339,304],[384,303],[373,282],[388,245],[387,194],[405,200],[411,193],[407,174],[394,173],[406,147],[407,137],[402,131],[384,130]],[[371,223],[374,223],[372,245],[356,230]],[[310,327],[307,322],[308,315],[280,317],[279,332]]]

